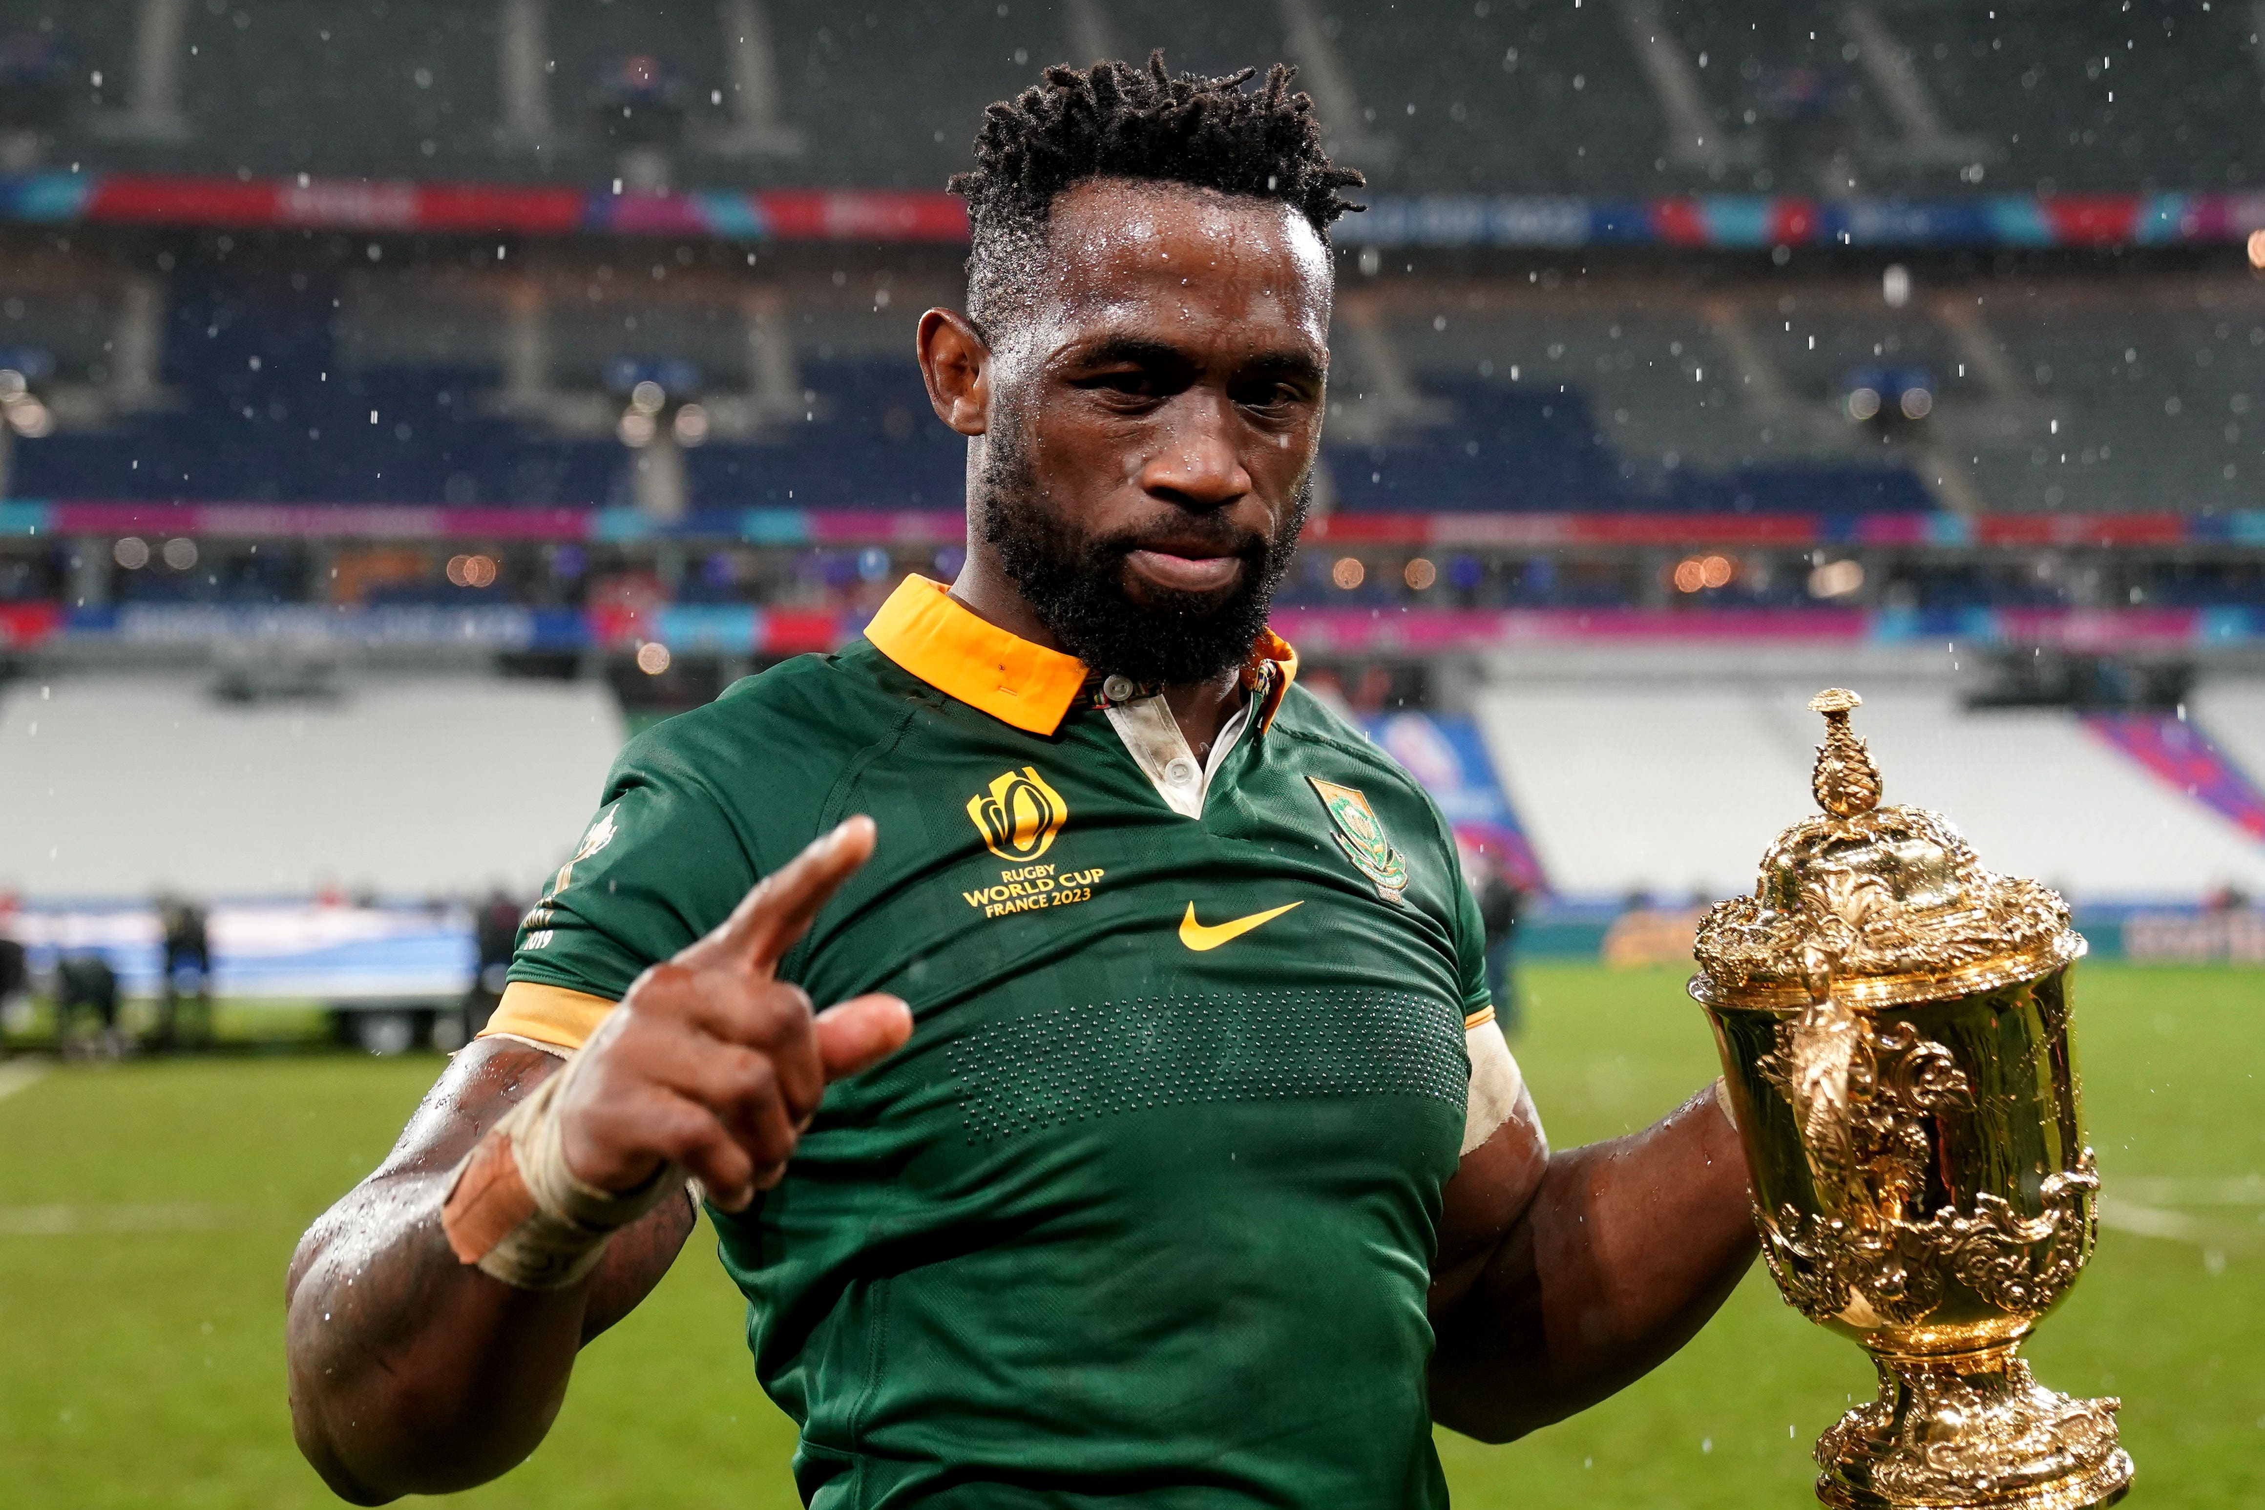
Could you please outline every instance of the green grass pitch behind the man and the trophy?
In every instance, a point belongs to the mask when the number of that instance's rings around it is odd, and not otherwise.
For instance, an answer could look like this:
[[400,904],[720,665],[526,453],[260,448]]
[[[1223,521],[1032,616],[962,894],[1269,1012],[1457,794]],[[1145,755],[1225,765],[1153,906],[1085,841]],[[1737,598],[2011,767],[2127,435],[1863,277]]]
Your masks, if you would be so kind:
[[[2122,1395],[2129,1503],[2265,1503],[2265,973],[2088,967],[2077,1030],[2106,1195],[2174,1236],[2104,1232],[2029,1356],[2054,1388]],[[1558,1146],[1642,1125],[1715,1075],[1665,971],[1527,971],[1518,1055]],[[57,1069],[0,1100],[0,1501],[333,1503],[285,1422],[283,1261],[435,1071],[140,1062]],[[1803,1505],[1810,1442],[1869,1390],[1862,1354],[1755,1270],[1613,1401],[1513,1447],[1443,1433],[1441,1453],[1465,1510]],[[700,1236],[584,1354],[544,1449],[460,1503],[793,1505],[790,1451]]]

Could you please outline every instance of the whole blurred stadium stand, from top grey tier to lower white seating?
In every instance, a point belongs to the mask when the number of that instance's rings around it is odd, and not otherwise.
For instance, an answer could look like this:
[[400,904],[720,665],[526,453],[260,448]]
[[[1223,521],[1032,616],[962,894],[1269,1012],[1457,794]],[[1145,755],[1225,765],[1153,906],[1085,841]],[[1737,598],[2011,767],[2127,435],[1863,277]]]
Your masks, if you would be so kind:
[[[1277,623],[1364,715],[1481,711],[1549,885],[1742,890],[1851,679],[1891,797],[1993,863],[2256,890],[2256,27],[0,0],[0,774],[59,792],[0,892],[519,883],[618,702],[951,575],[965,448],[911,360],[960,297],[938,190],[985,102],[1151,45],[1296,61],[1370,174]],[[2140,690],[1964,711],[2038,654]],[[2197,668],[2190,738],[2156,693]]]

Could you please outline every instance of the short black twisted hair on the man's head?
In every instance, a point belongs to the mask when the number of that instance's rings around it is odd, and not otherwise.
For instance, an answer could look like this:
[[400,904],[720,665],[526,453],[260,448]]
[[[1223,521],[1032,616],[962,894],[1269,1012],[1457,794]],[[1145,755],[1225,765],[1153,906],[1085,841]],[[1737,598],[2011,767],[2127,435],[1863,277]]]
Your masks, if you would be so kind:
[[1028,283],[1053,197],[1085,179],[1155,179],[1280,199],[1327,240],[1339,215],[1364,208],[1336,190],[1366,179],[1320,149],[1314,102],[1289,88],[1296,72],[1275,63],[1266,86],[1248,93],[1243,84],[1257,68],[1173,77],[1157,48],[1146,70],[1055,66],[1044,84],[992,104],[976,134],[974,170],[947,186],[967,199],[974,229],[967,312],[978,324],[1003,312]]

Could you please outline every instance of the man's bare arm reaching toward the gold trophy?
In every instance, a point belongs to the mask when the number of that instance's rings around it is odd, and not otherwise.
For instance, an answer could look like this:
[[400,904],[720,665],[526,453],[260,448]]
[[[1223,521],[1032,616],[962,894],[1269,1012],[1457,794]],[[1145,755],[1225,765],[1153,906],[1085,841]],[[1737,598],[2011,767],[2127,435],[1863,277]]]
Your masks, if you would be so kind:
[[1683,1347],[1753,1252],[1746,1155],[1710,1091],[1561,1155],[1520,1093],[1447,1184],[1434,1419],[1508,1442],[1597,1404]]

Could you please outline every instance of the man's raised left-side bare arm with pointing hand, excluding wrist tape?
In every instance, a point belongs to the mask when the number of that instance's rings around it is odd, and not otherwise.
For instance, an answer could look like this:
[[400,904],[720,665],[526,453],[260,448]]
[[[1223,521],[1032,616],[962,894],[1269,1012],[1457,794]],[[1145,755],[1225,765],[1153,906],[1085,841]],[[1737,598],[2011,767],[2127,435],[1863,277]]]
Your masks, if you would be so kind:
[[[904,1044],[913,1019],[895,996],[813,1014],[772,973],[872,842],[870,820],[843,824],[636,978],[546,1112],[575,1184],[639,1191],[677,1164],[736,1211],[777,1184],[824,1087]],[[521,1462],[566,1399],[575,1349],[659,1284],[691,1232],[691,1202],[670,1193],[555,1290],[458,1259],[442,1222],[458,1161],[553,1073],[514,1044],[460,1055],[385,1166],[299,1243],[292,1431],[344,1499],[464,1490]]]

